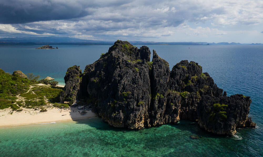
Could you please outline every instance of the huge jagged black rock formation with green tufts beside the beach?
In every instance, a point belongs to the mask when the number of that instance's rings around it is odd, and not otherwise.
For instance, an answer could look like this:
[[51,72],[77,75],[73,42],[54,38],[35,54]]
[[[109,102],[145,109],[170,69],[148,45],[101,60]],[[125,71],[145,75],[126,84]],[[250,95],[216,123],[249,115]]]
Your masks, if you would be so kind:
[[170,71],[169,63],[153,50],[116,41],[84,72],[68,68],[60,102],[86,102],[114,127],[141,129],[176,124],[180,119],[200,128],[232,136],[236,128],[255,128],[248,117],[251,99],[227,96],[194,61],[182,60]]

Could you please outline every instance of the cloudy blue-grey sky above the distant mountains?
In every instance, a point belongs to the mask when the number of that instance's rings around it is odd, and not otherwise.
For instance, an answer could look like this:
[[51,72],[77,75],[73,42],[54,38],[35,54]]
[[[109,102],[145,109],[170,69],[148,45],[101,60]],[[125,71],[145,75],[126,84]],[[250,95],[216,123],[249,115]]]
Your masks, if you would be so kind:
[[262,0],[1,0],[0,38],[263,43]]

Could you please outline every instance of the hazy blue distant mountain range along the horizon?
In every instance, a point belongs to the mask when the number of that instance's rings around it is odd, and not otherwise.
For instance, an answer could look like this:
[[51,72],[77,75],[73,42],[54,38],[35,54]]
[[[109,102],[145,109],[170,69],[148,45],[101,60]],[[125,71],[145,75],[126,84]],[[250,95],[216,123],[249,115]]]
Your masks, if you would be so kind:
[[[115,41],[85,40],[71,37],[15,37],[0,38],[0,45],[113,45]],[[241,43],[208,43],[208,42],[153,42],[153,41],[129,41],[133,45],[244,45]],[[246,45],[262,45],[252,43]]]

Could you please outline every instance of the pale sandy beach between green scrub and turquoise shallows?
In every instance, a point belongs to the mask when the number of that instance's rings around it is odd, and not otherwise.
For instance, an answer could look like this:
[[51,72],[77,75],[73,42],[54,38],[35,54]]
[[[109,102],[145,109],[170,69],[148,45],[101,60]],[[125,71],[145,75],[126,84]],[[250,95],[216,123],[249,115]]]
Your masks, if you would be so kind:
[[96,114],[92,111],[87,111],[86,114],[80,115],[82,110],[78,110],[77,108],[69,108],[67,110],[52,108],[48,109],[47,112],[39,112],[39,110],[33,109],[23,109],[21,112],[14,111],[12,115],[10,114],[11,111],[11,109],[0,110],[0,127],[64,122],[96,117]]

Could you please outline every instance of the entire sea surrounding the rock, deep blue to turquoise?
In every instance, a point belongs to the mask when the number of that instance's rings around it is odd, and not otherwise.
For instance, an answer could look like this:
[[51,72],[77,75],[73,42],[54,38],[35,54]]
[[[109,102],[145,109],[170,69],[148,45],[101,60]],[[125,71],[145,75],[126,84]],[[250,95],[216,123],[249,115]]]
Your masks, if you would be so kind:
[[[64,84],[67,68],[84,70],[110,46],[0,46],[0,68],[21,70]],[[137,46],[137,45],[136,45]],[[140,47],[139,45],[137,46]],[[180,121],[140,131],[109,127],[100,118],[0,128],[0,156],[263,156],[263,46],[148,46],[169,62],[195,61],[227,95],[250,96],[255,129],[237,129],[234,137],[214,136],[194,122]],[[202,138],[191,139],[191,135]]]

